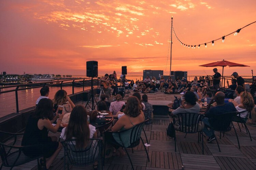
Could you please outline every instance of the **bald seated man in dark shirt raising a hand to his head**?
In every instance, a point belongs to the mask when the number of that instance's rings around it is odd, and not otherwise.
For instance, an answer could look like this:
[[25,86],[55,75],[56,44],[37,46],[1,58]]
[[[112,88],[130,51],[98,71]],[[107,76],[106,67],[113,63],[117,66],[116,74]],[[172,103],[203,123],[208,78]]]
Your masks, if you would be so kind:
[[[231,102],[225,103],[224,99],[225,99],[225,94],[221,91],[217,92],[215,94],[214,99],[210,101],[210,103],[208,104],[205,110],[205,114],[204,114],[205,118],[202,119],[202,121],[204,122],[203,132],[206,136],[209,137],[207,139],[208,142],[215,140],[214,131],[210,128],[209,119],[214,122],[214,118],[212,118],[212,116],[214,115],[237,111],[233,103]],[[211,104],[213,104],[215,101],[217,103],[217,106],[211,107]],[[210,130],[208,130],[208,128],[210,128]]]

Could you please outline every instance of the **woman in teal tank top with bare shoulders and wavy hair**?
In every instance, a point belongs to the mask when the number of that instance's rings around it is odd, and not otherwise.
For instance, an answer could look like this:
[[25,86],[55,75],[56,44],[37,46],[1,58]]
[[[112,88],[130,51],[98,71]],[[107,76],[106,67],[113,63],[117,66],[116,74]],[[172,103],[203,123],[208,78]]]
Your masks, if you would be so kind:
[[[123,131],[132,128],[133,126],[145,121],[144,114],[141,110],[140,101],[137,97],[131,96],[127,99],[127,105],[124,109],[124,116],[120,117],[118,121],[115,123],[115,125],[111,128],[112,132],[117,131]],[[106,142],[110,143],[113,147],[115,147],[116,156],[123,156],[125,155],[122,148],[118,147],[117,145],[114,145],[113,142],[117,143],[124,143],[124,146],[127,147],[130,145],[130,135],[131,131],[124,132],[125,134],[122,134],[122,141],[119,139],[119,135],[112,133],[109,131],[106,131],[104,133],[104,138]]]

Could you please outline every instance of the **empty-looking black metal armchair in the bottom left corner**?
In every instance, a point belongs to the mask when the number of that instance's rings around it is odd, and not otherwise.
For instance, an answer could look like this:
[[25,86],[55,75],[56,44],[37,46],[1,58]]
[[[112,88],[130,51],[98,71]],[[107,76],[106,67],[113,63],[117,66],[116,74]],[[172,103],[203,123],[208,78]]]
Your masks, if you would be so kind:
[[[38,155],[34,157],[29,157],[26,156],[23,152],[23,150],[27,150],[29,148],[38,148],[41,147],[41,145],[32,145],[32,146],[16,146],[15,143],[17,141],[17,135],[23,135],[24,133],[8,133],[8,132],[2,132],[0,131],[1,136],[3,134],[9,135],[9,136],[14,136],[14,141],[12,142],[11,145],[0,143],[0,155],[2,159],[2,167],[9,167],[10,169],[13,169],[13,167],[28,163],[32,160],[37,159],[38,162],[38,168],[40,168],[39,164],[39,158],[43,157],[43,155]],[[45,163],[45,158],[44,158],[44,163]],[[44,164],[46,167],[46,165]]]

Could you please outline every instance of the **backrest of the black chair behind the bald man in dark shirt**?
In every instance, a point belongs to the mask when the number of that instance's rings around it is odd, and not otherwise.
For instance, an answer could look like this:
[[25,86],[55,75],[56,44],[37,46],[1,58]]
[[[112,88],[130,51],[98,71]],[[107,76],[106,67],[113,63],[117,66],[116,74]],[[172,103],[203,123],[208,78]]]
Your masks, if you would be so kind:
[[216,114],[209,118],[209,123],[214,131],[228,132],[231,130],[233,117],[237,114],[238,112]]

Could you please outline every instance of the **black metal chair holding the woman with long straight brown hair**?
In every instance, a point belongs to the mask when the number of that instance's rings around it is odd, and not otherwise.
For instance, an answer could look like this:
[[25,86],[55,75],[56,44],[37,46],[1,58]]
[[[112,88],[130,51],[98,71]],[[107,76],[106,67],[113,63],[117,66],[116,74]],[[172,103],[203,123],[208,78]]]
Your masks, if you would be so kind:
[[73,166],[84,167],[94,164],[98,161],[98,169],[101,167],[103,170],[102,159],[102,139],[89,139],[89,144],[85,149],[78,149],[75,147],[75,139],[65,140],[61,142],[64,148],[64,169],[66,169],[66,157],[68,157],[68,169],[69,164]]

